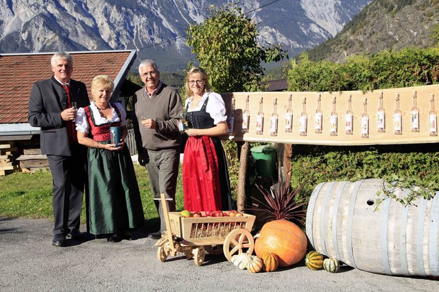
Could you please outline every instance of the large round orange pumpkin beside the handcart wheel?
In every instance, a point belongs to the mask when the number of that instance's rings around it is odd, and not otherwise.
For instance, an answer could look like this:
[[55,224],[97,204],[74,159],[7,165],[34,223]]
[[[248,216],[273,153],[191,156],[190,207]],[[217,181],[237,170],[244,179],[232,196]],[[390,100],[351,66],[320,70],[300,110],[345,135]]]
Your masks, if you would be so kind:
[[262,257],[268,252],[277,254],[278,266],[288,267],[298,263],[307,252],[307,236],[302,229],[287,220],[274,220],[262,226],[254,243],[254,252]]

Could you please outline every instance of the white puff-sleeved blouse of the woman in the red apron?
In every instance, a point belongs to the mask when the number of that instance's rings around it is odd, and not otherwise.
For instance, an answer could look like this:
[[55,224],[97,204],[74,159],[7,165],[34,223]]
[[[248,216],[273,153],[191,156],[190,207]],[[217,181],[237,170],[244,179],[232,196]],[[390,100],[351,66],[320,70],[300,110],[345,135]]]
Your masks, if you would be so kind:
[[193,109],[191,109],[193,96],[187,98],[185,102],[185,109],[187,109],[188,112],[199,111],[202,105],[204,105],[204,101],[206,101],[206,98],[208,97],[209,101],[207,101],[206,113],[210,114],[211,118],[213,118],[213,124],[226,121],[226,105],[222,99],[222,96],[215,92],[206,92],[205,94],[203,94],[200,102],[198,102],[198,104]]

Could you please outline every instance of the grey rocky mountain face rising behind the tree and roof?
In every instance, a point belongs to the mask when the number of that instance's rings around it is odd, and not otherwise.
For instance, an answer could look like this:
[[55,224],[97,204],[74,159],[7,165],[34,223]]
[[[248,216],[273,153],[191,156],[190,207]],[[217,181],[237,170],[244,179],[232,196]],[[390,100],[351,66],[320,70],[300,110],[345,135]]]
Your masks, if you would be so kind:
[[[246,0],[259,42],[283,44],[294,56],[342,30],[371,0]],[[139,49],[162,70],[194,59],[186,29],[209,7],[235,0],[0,0],[0,53]]]

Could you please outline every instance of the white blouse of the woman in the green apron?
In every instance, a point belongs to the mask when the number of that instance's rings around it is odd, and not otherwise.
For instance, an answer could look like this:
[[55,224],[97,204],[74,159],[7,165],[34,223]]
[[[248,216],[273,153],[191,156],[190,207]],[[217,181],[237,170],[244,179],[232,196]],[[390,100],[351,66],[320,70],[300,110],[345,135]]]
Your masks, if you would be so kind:
[[[114,107],[112,107],[111,104],[108,104],[110,108],[112,109],[112,116],[111,119],[108,120],[105,116],[101,116],[99,113],[99,109],[97,109],[95,103],[90,103],[90,109],[93,112],[93,117],[95,118],[95,123],[97,126],[99,124],[106,124],[108,122],[121,122],[121,126],[126,125],[126,111],[123,109],[122,105],[120,103],[115,103],[117,109],[119,109],[119,113],[121,114],[121,118],[117,116],[117,111]],[[75,124],[76,124],[76,131],[81,133],[89,133],[90,131],[90,124],[88,124],[88,119],[85,114],[84,108],[80,107],[78,109],[78,114],[75,118]]]

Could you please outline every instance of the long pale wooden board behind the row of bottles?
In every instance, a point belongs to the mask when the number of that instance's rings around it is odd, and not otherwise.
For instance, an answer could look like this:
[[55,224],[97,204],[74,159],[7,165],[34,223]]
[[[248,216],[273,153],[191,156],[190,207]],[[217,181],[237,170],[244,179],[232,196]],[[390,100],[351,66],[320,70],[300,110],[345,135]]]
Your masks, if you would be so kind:
[[[416,90],[419,109],[420,131],[412,132],[412,92]],[[385,108],[385,133],[377,131],[377,109],[379,107],[379,92],[383,92],[383,107]],[[400,109],[402,113],[402,135],[395,135],[393,118],[395,109],[395,94],[399,94]],[[287,110],[287,96],[292,94],[293,129],[285,133],[285,112]],[[314,114],[317,109],[318,92],[233,92],[222,94],[229,111],[230,100],[235,98],[235,124],[234,133],[223,136],[222,139],[250,142],[274,142],[289,144],[316,144],[316,145],[378,145],[378,144],[419,144],[439,142],[439,136],[429,135],[429,94],[436,95],[435,110],[439,112],[439,85],[425,85],[410,88],[392,88],[388,90],[375,90],[363,93],[361,91],[348,92],[320,92],[323,111],[323,133],[314,133]],[[345,114],[348,95],[352,96],[353,110],[353,135],[345,133]],[[246,107],[246,96],[250,96],[250,125],[248,133],[241,133],[242,113]],[[263,97],[263,134],[256,134],[256,118],[259,111],[259,97]],[[302,97],[305,96],[306,111],[308,114],[307,136],[300,136],[299,116],[302,111]],[[329,116],[332,109],[332,97],[335,96],[336,111],[338,114],[337,136],[329,134]],[[369,115],[369,138],[361,137],[361,114],[363,111],[362,98],[367,98]],[[277,98],[278,135],[270,135],[270,116],[273,112],[273,99]]]

